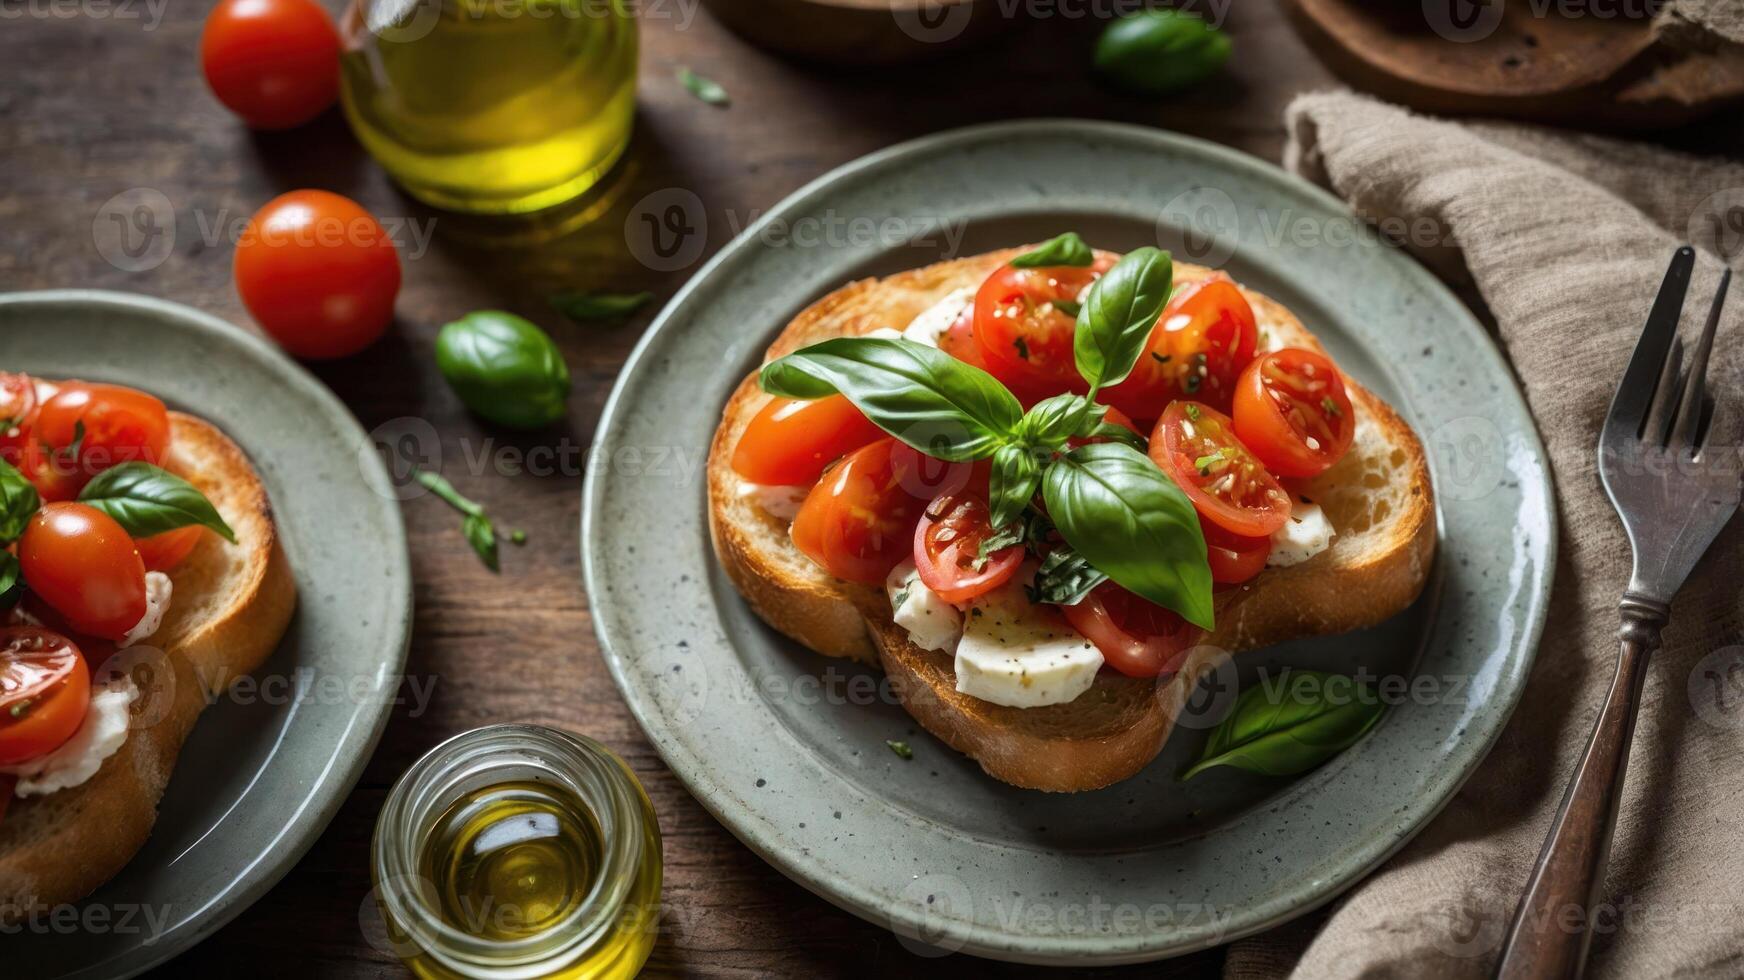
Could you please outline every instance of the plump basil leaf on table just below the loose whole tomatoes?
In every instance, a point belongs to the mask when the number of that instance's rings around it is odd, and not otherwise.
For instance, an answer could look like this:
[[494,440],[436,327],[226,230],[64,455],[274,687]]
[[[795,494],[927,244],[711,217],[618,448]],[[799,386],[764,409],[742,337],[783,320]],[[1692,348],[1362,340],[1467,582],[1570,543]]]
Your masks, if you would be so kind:
[[509,429],[563,417],[569,364],[546,331],[501,310],[478,310],[436,335],[436,368],[478,415]]

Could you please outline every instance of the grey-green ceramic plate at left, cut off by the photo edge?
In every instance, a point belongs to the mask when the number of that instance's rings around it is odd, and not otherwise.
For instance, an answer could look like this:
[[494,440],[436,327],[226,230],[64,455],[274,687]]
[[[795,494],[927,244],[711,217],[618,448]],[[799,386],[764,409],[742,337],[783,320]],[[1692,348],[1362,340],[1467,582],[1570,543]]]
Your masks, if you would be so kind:
[[363,774],[412,636],[405,527],[351,412],[213,316],[94,289],[3,295],[0,370],[127,384],[216,424],[265,481],[296,577],[284,640],[201,715],[145,849],[0,940],[7,977],[131,977],[265,895]]

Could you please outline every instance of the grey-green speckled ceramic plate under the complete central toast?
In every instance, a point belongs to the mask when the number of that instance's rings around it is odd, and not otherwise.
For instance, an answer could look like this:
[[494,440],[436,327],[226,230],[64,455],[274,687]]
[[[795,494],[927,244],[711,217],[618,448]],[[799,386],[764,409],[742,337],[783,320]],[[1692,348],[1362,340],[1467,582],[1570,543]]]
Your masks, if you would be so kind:
[[[715,567],[701,460],[727,394],[797,310],[855,277],[1067,228],[1113,249],[1160,244],[1284,302],[1430,450],[1441,551],[1423,600],[1376,630],[1240,657],[1245,682],[1280,666],[1395,678],[1381,724],[1306,776],[1221,769],[1179,783],[1203,741],[1182,731],[1106,790],[1006,786],[921,731],[875,673],[764,628]],[[1277,167],[1095,122],[947,133],[788,197],[654,323],[593,460],[582,558],[595,623],[624,699],[689,790],[769,863],[905,945],[1029,963],[1228,942],[1380,865],[1502,731],[1556,549],[1526,406],[1441,282]]]

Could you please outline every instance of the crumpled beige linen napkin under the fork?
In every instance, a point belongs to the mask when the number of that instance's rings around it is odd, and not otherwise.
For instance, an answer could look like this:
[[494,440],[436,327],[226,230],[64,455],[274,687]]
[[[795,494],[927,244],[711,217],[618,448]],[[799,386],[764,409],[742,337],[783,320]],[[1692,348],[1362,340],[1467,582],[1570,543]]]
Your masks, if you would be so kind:
[[[1355,94],[1287,110],[1287,164],[1369,218],[1428,218],[1425,260],[1468,276],[1550,452],[1559,556],[1519,710],[1430,827],[1329,912],[1236,943],[1226,975],[1484,977],[1617,657],[1629,546],[1592,453],[1672,249],[1744,251],[1744,166],[1526,126],[1453,124]],[[1397,330],[1411,330],[1399,323]],[[1744,413],[1744,289],[1709,373]],[[1592,977],[1744,975],[1744,518],[1672,605],[1641,708]],[[1737,654],[1737,656],[1735,656]],[[1400,706],[1399,710],[1409,710]]]

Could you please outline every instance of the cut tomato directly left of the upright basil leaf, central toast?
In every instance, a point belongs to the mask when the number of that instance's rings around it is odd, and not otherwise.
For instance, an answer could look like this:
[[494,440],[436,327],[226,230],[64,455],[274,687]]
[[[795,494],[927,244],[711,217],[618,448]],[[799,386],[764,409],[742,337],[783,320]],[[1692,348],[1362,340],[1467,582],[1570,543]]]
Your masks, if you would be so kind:
[[1092,267],[1001,265],[975,293],[975,340],[989,371],[1050,392],[1088,391],[1073,359],[1076,314],[1055,303],[1076,303],[1097,277]]

